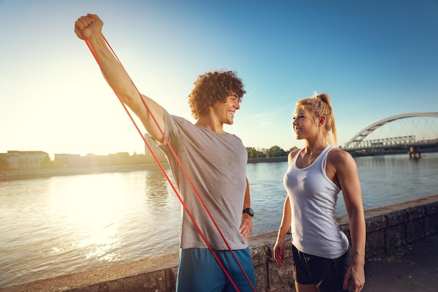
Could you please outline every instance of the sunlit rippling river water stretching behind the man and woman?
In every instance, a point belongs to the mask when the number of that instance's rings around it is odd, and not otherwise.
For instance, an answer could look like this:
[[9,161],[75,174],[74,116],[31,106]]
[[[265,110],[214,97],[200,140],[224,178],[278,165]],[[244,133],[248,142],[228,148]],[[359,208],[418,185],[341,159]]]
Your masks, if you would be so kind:
[[[365,209],[438,193],[438,153],[355,161]],[[253,235],[280,224],[287,166],[248,164]],[[180,207],[159,169],[0,181],[0,288],[176,252]]]

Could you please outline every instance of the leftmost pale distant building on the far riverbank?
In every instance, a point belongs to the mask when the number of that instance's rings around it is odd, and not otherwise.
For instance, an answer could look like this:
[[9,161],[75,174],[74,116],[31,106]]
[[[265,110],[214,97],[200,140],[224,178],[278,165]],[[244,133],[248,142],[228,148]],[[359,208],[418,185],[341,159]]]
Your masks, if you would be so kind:
[[8,151],[3,158],[6,158],[11,170],[41,169],[45,162],[50,162],[48,153],[43,151]]

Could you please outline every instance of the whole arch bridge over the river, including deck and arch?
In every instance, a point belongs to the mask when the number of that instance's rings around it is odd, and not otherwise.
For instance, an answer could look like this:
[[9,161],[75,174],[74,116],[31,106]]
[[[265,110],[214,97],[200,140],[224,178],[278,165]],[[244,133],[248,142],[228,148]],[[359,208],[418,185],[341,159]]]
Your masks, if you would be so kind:
[[[407,135],[399,135],[399,137],[384,137],[378,139],[365,139],[370,137],[374,131],[386,125],[388,123],[392,123],[395,120],[401,120],[405,118],[416,118],[416,117],[428,117],[432,118],[432,120],[436,120],[436,122],[432,123],[432,125],[437,125],[437,131],[433,132],[428,139],[416,138],[416,134],[421,132],[423,129],[417,129],[417,133],[411,133]],[[435,119],[436,118],[436,119]],[[430,125],[430,123],[428,124]],[[424,128],[424,126],[423,126]],[[355,135],[350,141],[348,141],[344,150],[351,153],[368,153],[368,155],[372,155],[372,153],[381,152],[381,151],[394,151],[394,150],[404,150],[406,151],[409,147],[422,147],[422,148],[437,148],[438,151],[438,113],[405,113],[402,115],[391,116],[389,118],[385,118],[383,120],[379,120],[378,122],[369,125],[365,129],[361,130],[358,134]]]

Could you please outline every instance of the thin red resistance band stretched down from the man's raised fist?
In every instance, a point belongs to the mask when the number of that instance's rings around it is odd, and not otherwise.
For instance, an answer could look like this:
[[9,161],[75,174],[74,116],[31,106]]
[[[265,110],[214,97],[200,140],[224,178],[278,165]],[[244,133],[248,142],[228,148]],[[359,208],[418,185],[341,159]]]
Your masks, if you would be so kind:
[[[120,60],[118,59],[117,55],[115,55],[115,52],[113,51],[113,48],[111,48],[110,44],[108,43],[108,41],[106,41],[105,36],[102,34],[102,37],[104,38],[104,41],[106,42],[106,45],[108,46],[108,48],[111,50],[111,53],[113,53],[114,57],[116,60],[118,60],[118,62],[120,63],[120,65],[122,66],[122,62],[120,62]],[[97,57],[97,54],[94,52],[92,46],[90,45],[90,42],[85,39],[85,37],[83,36],[83,39],[85,40],[85,43],[87,43],[88,48],[90,49],[92,55],[94,56],[94,59],[96,60],[97,64],[99,64],[99,67],[101,69],[102,74],[104,74],[105,77],[107,77],[106,72],[104,71],[104,69],[101,66],[101,62],[99,61],[99,58]],[[123,66],[122,66],[123,67]],[[199,198],[199,201],[202,203],[202,206],[204,206],[204,209],[206,210],[207,214],[209,215],[209,217],[211,218],[211,221],[213,222],[213,224],[215,225],[216,229],[218,230],[220,236],[222,237],[223,241],[225,242],[225,244],[227,245],[227,248],[229,249],[229,251],[232,253],[232,256],[234,257],[234,260],[236,260],[236,263],[239,265],[241,271],[243,272],[243,274],[245,275],[248,283],[250,284],[251,288],[253,288],[253,291],[256,292],[253,284],[251,283],[250,279],[248,278],[248,275],[246,274],[245,270],[243,270],[243,267],[241,266],[241,264],[239,263],[239,260],[236,258],[236,255],[234,254],[234,251],[232,250],[231,246],[229,246],[227,239],[225,239],[225,236],[223,235],[223,233],[220,231],[220,228],[218,226],[218,224],[216,223],[216,221],[214,220],[213,216],[211,215],[211,212],[209,211],[209,208],[206,206],[204,200],[202,200],[201,195],[199,194],[197,188],[195,187],[194,183],[192,182],[192,180],[190,179],[188,173],[185,171],[185,168],[183,167],[181,161],[178,158],[178,155],[176,155],[174,148],[171,147],[171,144],[169,143],[169,141],[167,140],[167,137],[164,135],[163,130],[161,129],[160,125],[158,125],[157,120],[155,119],[155,116],[153,116],[153,113],[150,111],[148,104],[146,104],[146,101],[143,99],[143,97],[141,96],[139,90],[136,88],[136,85],[134,84],[134,82],[132,81],[131,78],[129,78],[132,82],[132,85],[134,85],[134,88],[137,90],[137,92],[139,93],[139,97],[141,98],[141,101],[143,102],[143,105],[146,107],[146,109],[148,110],[148,112],[150,113],[150,116],[153,118],[155,125],[157,125],[158,130],[160,130],[160,133],[162,134],[162,136],[164,137],[164,140],[166,141],[166,143],[169,145],[169,149],[171,151],[171,153],[174,155],[174,158],[176,159],[176,161],[178,162],[178,165],[181,167],[181,169],[183,170],[183,173],[185,174],[185,177],[188,179],[190,186],[192,186],[193,190],[195,190],[195,193],[197,195],[197,197]],[[220,267],[222,268],[223,272],[225,272],[227,278],[229,279],[229,281],[232,283],[232,285],[234,286],[234,288],[236,289],[236,291],[239,292],[239,288],[237,288],[236,284],[234,283],[233,279],[231,278],[231,276],[228,274],[227,270],[225,269],[225,267],[222,265],[222,263],[220,262],[220,259],[218,258],[218,256],[216,255],[216,253],[214,252],[213,248],[211,247],[211,245],[209,244],[208,240],[206,239],[204,233],[202,232],[202,230],[199,228],[199,225],[196,223],[195,218],[193,218],[192,214],[190,213],[188,207],[185,205],[181,195],[179,195],[178,190],[176,190],[176,187],[174,186],[174,184],[171,182],[171,179],[169,178],[169,176],[167,175],[166,171],[164,170],[164,168],[162,167],[160,161],[158,160],[157,156],[155,155],[155,153],[153,152],[152,148],[150,147],[150,145],[148,144],[148,141],[146,141],[146,138],[143,136],[143,133],[141,132],[141,130],[139,129],[138,125],[136,125],[136,122],[134,121],[134,118],[132,118],[131,113],[129,113],[126,105],[123,103],[121,97],[118,95],[118,92],[115,90],[115,88],[113,87],[113,85],[111,84],[111,82],[109,82],[109,79],[106,78],[106,80],[108,81],[108,84],[111,86],[111,88],[113,89],[115,95],[117,95],[120,103],[122,104],[123,108],[125,109],[127,115],[129,116],[129,118],[131,119],[132,123],[134,124],[134,127],[136,127],[137,132],[139,132],[141,139],[143,139],[145,145],[148,147],[148,150],[150,151],[150,153],[153,155],[153,158],[155,160],[155,162],[157,162],[158,167],[160,167],[162,173],[164,174],[164,177],[167,179],[167,181],[169,182],[171,188],[174,190],[174,193],[176,194],[176,197],[178,197],[178,200],[181,202],[184,210],[187,212],[188,216],[190,217],[190,219],[192,220],[193,224],[195,225],[195,228],[197,229],[197,231],[199,232],[199,235],[201,235],[202,239],[204,240],[204,242],[206,243],[206,245],[209,247],[211,253],[213,254],[214,258],[216,259],[216,261],[218,262],[218,264],[220,265]]]

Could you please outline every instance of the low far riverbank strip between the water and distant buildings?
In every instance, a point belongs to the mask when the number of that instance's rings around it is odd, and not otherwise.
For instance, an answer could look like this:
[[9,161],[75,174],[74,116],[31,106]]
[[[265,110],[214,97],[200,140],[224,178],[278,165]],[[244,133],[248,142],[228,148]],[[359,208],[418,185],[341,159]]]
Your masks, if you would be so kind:
[[[248,163],[259,162],[283,162],[288,161],[287,156],[272,158],[248,158]],[[164,169],[168,169],[167,163],[162,163]],[[108,172],[133,172],[138,170],[155,170],[160,169],[156,163],[141,165],[106,165],[97,167],[76,167],[76,168],[58,168],[58,169],[35,169],[35,170],[11,170],[0,172],[0,181],[16,179],[37,179],[49,176],[67,176],[76,174],[102,174]]]

